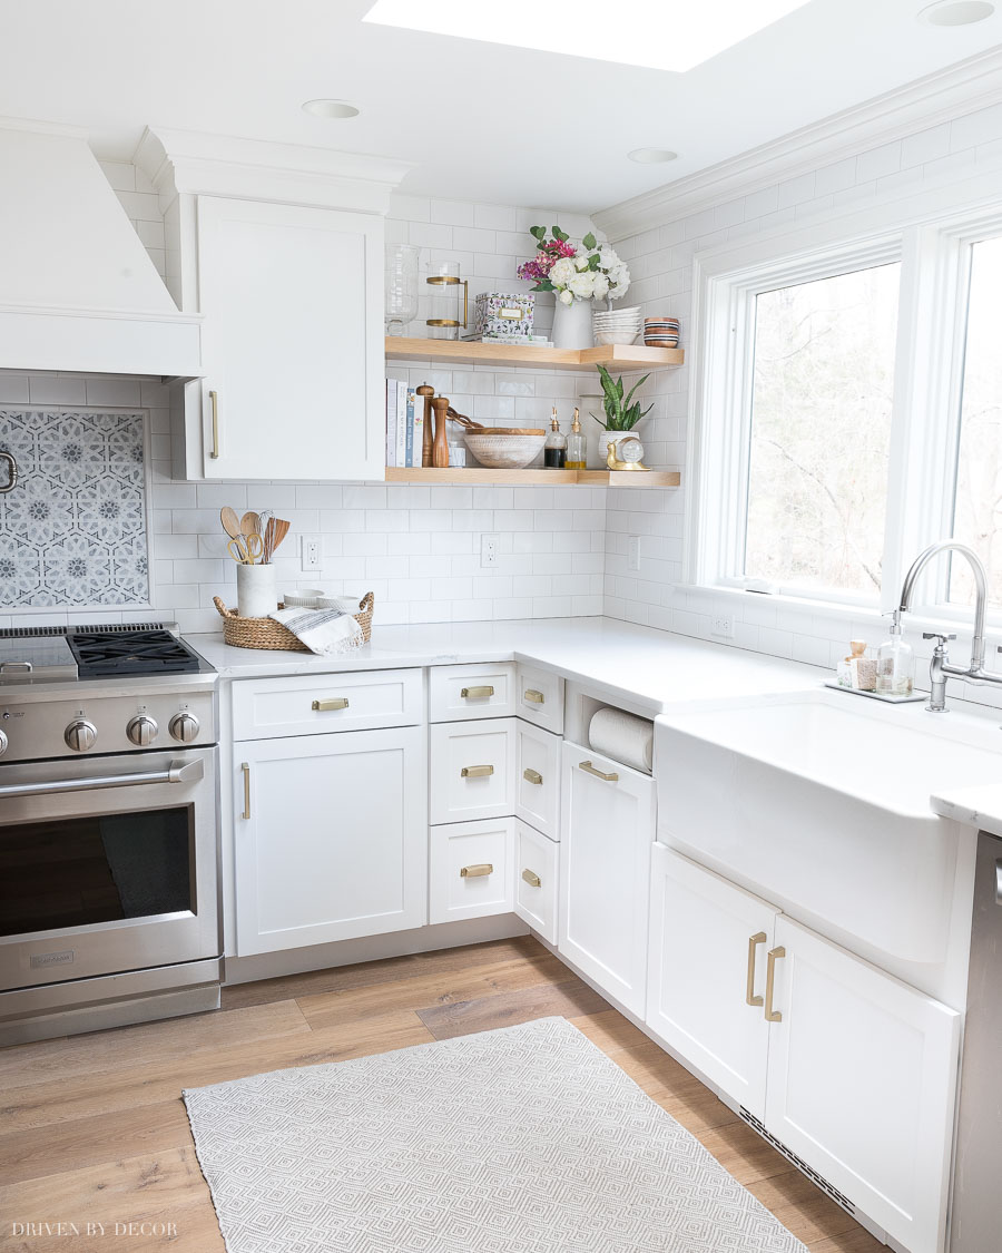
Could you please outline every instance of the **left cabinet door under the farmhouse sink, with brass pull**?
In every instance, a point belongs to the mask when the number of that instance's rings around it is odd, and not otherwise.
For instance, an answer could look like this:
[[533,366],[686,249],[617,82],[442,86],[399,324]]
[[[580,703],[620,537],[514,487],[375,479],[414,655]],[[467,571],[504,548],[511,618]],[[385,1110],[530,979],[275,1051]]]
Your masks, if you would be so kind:
[[645,1021],[735,1103],[765,1116],[767,952],[779,911],[665,845],[651,852]]

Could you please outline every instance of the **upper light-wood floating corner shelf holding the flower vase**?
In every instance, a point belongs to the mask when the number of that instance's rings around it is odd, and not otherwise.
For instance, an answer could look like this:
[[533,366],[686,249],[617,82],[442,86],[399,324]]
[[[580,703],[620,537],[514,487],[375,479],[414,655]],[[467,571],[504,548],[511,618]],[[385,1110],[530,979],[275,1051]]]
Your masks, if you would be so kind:
[[[448,361],[462,366],[536,366],[542,370],[661,370],[685,361],[683,348],[609,343],[599,348],[522,348],[514,343],[463,343],[458,340],[386,337],[387,361]],[[628,471],[629,472],[629,471]]]

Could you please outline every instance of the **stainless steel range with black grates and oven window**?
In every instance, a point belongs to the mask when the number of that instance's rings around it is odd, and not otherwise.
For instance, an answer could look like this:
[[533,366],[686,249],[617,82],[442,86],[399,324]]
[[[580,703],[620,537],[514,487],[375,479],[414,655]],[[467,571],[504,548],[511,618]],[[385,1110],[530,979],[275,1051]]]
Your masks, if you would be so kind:
[[173,630],[0,630],[0,1045],[219,1005],[215,672]]

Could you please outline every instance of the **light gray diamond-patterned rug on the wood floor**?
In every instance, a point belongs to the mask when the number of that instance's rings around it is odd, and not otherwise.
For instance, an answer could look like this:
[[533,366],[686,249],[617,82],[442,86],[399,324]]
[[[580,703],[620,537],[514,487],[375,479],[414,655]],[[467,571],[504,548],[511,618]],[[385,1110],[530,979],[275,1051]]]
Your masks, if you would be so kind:
[[228,1253],[807,1253],[561,1017],[184,1100]]

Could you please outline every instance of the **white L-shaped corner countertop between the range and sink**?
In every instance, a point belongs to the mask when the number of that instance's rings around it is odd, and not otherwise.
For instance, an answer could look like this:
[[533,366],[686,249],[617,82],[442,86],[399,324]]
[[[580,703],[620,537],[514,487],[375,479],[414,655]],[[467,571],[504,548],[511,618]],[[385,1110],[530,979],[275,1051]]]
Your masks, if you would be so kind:
[[827,672],[799,662],[612,618],[374,626],[372,643],[339,657],[232,648],[220,634],[187,639],[224,679],[524,662],[631,700],[651,713],[679,702],[797,692],[828,678]]

